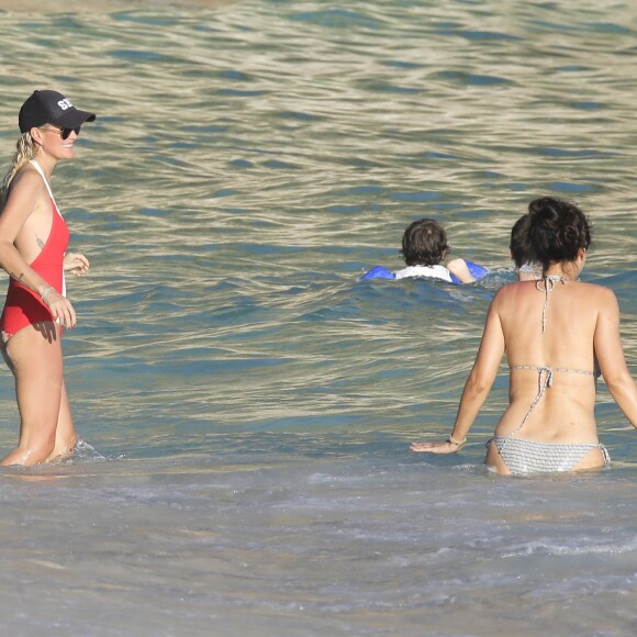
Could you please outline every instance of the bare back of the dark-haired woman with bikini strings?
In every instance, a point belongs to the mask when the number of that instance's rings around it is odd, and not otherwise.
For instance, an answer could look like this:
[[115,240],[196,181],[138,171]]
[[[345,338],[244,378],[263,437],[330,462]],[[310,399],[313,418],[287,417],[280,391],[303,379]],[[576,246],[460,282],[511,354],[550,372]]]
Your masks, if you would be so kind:
[[[595,332],[607,303],[608,290],[578,281],[527,281],[499,292],[493,311],[511,380],[510,405],[496,435],[517,432],[519,438],[546,443],[597,442]],[[536,400],[540,393],[541,400]]]

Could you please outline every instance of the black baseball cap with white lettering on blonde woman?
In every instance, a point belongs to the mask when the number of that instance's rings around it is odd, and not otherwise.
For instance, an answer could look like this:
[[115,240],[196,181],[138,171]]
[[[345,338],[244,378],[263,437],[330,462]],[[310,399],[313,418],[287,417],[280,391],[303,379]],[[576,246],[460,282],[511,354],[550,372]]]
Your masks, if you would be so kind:
[[76,109],[70,100],[57,91],[33,91],[22,104],[18,115],[21,133],[34,126],[54,124],[60,128],[79,128],[85,122],[93,122],[94,113]]

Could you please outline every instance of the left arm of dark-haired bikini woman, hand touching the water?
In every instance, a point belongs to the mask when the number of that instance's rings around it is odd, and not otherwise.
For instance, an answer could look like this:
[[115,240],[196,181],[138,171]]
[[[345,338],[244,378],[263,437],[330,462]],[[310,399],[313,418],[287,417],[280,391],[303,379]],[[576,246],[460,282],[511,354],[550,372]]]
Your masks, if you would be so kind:
[[498,311],[499,294],[489,309],[478,356],[465,384],[451,435],[442,443],[412,443],[412,451],[454,454],[466,442],[467,434],[491,391],[504,355],[504,334]]

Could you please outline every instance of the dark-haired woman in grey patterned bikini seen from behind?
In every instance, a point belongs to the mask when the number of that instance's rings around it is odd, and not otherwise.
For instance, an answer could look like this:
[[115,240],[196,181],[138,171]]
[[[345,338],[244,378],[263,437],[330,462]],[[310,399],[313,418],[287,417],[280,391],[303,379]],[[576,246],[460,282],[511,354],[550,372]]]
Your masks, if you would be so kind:
[[637,385],[619,339],[619,309],[611,290],[578,280],[591,242],[581,210],[549,197],[528,210],[529,247],[543,278],[495,294],[451,435],[411,449],[458,451],[506,353],[510,403],[487,444],[485,465],[501,474],[600,468],[608,455],[594,417],[599,372],[637,428]]

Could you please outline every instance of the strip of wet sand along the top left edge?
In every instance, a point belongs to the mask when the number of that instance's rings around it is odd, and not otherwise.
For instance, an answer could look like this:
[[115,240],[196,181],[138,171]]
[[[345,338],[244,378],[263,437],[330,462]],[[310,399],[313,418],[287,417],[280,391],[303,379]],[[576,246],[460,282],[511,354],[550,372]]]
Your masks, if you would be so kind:
[[241,0],[0,0],[0,11],[12,13],[109,13],[144,7],[223,7]]

